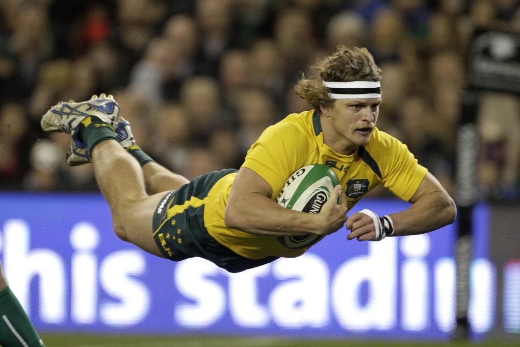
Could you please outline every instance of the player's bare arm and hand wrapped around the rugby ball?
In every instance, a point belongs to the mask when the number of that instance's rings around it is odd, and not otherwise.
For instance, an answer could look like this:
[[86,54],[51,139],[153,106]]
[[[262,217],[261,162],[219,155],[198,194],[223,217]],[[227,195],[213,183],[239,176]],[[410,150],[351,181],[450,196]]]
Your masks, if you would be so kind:
[[261,176],[241,168],[226,205],[225,223],[227,227],[255,235],[331,234],[346,222],[347,212],[346,203],[335,202],[340,192],[334,190],[318,214],[284,209],[270,199],[271,186]]

